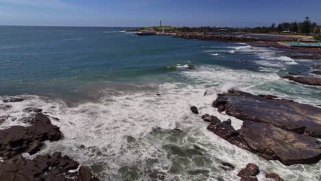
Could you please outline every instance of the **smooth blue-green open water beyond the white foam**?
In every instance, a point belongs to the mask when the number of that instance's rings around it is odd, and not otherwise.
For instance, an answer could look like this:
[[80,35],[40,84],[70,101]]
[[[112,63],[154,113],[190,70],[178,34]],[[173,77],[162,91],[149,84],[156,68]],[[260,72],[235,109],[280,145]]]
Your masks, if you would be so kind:
[[[246,45],[171,36],[139,37],[122,32],[126,29],[0,27],[0,95],[71,96],[85,91],[82,86],[103,82],[190,82],[180,76],[178,64],[254,72],[279,68],[274,60],[270,60],[272,64],[257,63],[261,49]],[[239,53],[231,53],[235,51]],[[261,53],[264,56],[265,52]],[[296,67],[302,71],[298,64],[276,70],[282,73]]]

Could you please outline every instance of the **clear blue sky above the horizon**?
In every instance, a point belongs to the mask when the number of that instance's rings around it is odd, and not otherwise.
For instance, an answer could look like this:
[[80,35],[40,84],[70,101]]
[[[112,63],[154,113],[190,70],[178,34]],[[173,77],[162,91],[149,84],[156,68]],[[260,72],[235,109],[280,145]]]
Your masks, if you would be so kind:
[[0,25],[254,27],[309,16],[321,0],[0,0]]

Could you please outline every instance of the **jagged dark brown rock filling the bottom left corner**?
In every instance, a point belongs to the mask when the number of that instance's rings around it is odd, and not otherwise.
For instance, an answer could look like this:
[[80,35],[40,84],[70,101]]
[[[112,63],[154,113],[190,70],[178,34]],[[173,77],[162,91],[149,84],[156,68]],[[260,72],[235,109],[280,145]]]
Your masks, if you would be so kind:
[[0,162],[0,178],[6,181],[77,180],[96,181],[91,172],[68,156],[56,152],[53,156],[36,156],[27,160],[14,156]]

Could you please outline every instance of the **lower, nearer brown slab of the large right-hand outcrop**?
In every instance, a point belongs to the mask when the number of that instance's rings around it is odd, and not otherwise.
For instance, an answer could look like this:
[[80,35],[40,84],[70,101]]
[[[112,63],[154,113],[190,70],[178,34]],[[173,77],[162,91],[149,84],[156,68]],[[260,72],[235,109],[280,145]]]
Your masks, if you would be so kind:
[[280,160],[284,165],[316,163],[321,159],[318,140],[273,125],[244,121],[241,129],[236,131],[224,121],[210,124],[208,129],[233,145],[267,160]]

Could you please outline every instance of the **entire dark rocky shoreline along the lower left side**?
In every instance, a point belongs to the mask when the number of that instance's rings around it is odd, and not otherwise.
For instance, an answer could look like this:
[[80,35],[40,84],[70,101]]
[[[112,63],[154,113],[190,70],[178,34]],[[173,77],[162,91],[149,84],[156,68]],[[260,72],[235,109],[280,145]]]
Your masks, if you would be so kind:
[[[23,99],[5,99],[0,104],[1,109],[10,109],[6,103],[15,103]],[[59,141],[63,138],[60,129],[51,124],[49,116],[43,114],[39,108],[25,108],[30,112],[29,117],[19,121],[29,126],[15,125],[5,130],[0,130],[0,180],[32,181],[32,180],[78,180],[96,181],[88,167],[79,165],[68,156],[60,152],[51,155],[38,155],[29,160],[23,154],[34,155],[40,151],[45,141]],[[10,118],[3,117],[1,123]]]

